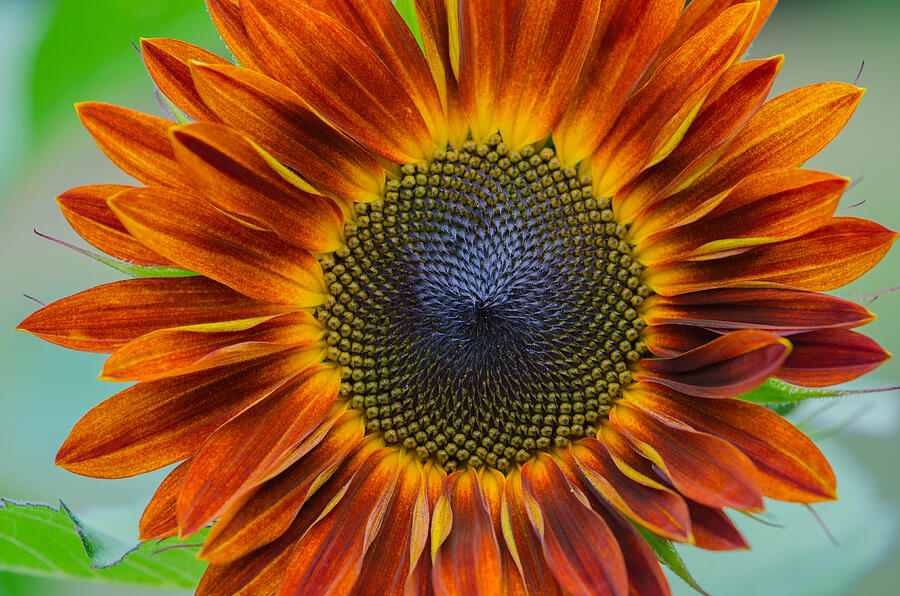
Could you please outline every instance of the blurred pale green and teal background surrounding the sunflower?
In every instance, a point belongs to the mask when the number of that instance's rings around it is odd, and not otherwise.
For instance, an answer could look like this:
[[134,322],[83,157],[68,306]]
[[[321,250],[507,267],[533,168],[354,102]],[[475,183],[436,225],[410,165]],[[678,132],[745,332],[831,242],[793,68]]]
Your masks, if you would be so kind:
[[[819,81],[868,87],[843,134],[808,167],[859,181],[849,214],[900,229],[900,2],[783,0],[751,47],[753,57],[784,53],[773,93]],[[176,37],[225,52],[202,0],[0,0],[0,496],[55,503],[63,498],[86,521],[134,540],[137,519],[162,474],[118,481],[80,478],[53,467],[56,449],[90,407],[116,387],[96,380],[101,358],[68,352],[12,328],[37,305],[118,279],[101,265],[33,229],[76,241],[54,197],[81,184],[128,183],[80,127],[72,104],[102,100],[160,114],[153,85],[131,45],[139,37]],[[228,55],[227,53],[225,55]],[[853,297],[900,285],[900,250],[840,294]],[[900,351],[900,293],[870,307],[866,329]],[[891,361],[864,382],[900,385]],[[900,553],[900,397],[881,393],[807,409],[813,425],[852,421],[822,443],[838,475],[841,501],[816,507],[831,543],[799,506],[774,504],[773,528],[737,520],[754,550],[684,549],[700,583],[714,595],[882,596],[897,593]],[[676,594],[690,594],[673,580]],[[0,595],[124,595],[146,592],[0,574]]]

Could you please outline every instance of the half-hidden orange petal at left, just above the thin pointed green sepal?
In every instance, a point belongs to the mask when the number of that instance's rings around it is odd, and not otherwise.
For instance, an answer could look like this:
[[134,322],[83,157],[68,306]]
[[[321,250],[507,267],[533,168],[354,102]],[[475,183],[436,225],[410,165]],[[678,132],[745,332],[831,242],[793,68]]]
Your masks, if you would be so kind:
[[67,190],[56,198],[63,217],[78,235],[106,254],[142,267],[171,267],[128,233],[106,200],[134,188],[121,184],[95,184]]

